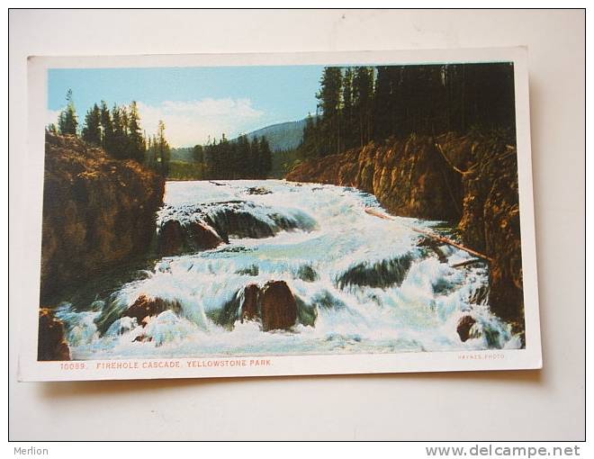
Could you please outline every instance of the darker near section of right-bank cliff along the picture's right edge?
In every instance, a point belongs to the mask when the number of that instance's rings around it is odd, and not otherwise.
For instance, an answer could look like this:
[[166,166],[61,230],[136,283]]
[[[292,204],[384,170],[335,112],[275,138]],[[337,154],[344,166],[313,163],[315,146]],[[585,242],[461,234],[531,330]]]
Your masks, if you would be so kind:
[[464,241],[490,255],[491,311],[524,329],[524,293],[518,202],[518,154],[504,135],[477,136],[473,165],[464,174]]

